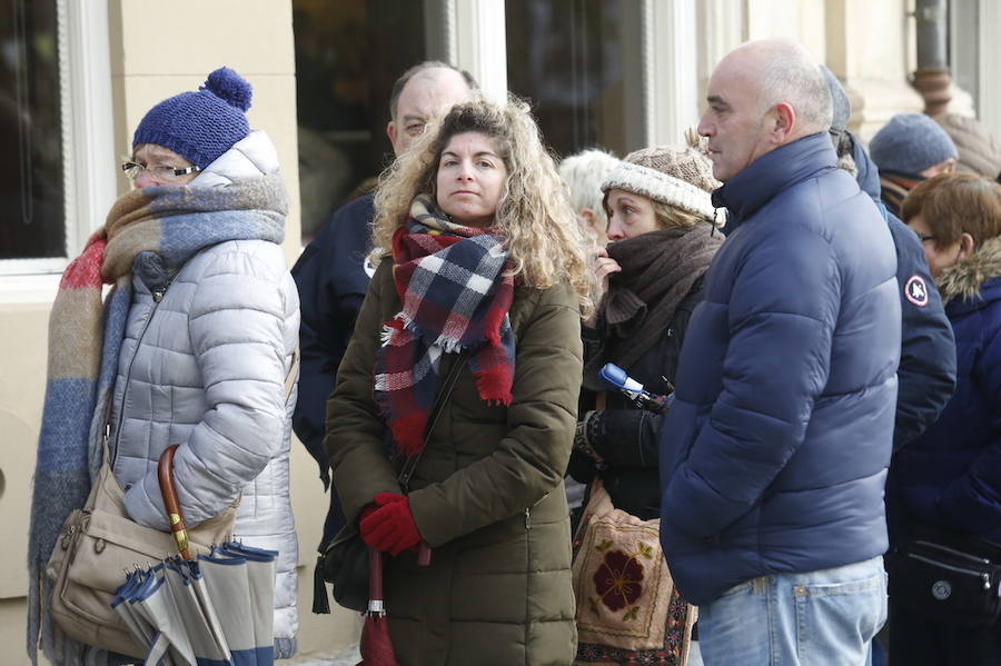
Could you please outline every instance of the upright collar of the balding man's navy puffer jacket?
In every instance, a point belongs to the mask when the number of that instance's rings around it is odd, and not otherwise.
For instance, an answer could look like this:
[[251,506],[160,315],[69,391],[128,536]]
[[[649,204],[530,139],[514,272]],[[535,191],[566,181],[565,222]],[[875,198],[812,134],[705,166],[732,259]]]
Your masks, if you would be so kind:
[[754,160],[713,192],[713,205],[725,207],[740,225],[782,190],[836,165],[827,132],[810,135]]

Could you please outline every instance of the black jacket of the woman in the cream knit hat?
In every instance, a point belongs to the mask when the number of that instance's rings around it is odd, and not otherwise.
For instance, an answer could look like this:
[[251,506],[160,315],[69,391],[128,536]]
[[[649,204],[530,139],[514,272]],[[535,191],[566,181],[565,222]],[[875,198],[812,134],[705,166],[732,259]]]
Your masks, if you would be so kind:
[[[678,304],[671,325],[657,344],[632,366],[624,368],[646,390],[655,394],[673,390],[688,319],[701,298],[700,279],[693,285],[688,296]],[[598,335],[592,328],[584,331],[585,362],[594,354]],[[609,360],[616,362],[614,358]],[[595,396],[594,391],[582,389],[582,417],[586,410],[595,408]],[[642,520],[656,518],[661,511],[657,448],[665,415],[640,409],[625,395],[614,389],[608,389],[605,396],[605,409],[592,417],[596,420],[591,426],[588,439],[608,465],[602,471],[602,481],[615,508]],[[596,474],[594,460],[575,451],[571,457],[569,474],[578,481],[589,483]]]

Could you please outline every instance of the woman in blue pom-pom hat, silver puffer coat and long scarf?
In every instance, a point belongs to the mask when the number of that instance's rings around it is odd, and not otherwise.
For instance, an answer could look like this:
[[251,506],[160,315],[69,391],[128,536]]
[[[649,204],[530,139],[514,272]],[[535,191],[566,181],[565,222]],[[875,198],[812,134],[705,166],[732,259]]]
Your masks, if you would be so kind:
[[[287,381],[299,304],[280,245],[285,186],[274,145],[247,122],[250,98],[224,67],[155,106],[122,165],[136,189],[63,275],[31,510],[32,659],[41,645],[54,666],[122,663],[50,620],[46,563],[105,461],[131,519],[167,530],[157,461],[171,445],[189,527],[239,501],[235,537],[279,551],[275,656],[295,653]],[[103,299],[102,285],[113,285]]]

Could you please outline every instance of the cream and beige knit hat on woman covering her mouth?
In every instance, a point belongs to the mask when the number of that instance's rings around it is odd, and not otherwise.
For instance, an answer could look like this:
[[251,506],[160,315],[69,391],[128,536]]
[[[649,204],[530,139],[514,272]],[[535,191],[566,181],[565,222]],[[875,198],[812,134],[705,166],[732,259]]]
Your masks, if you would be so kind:
[[631,152],[602,183],[602,191],[621,189],[713,219],[711,193],[721,187],[713,165],[690,146],[658,146]]

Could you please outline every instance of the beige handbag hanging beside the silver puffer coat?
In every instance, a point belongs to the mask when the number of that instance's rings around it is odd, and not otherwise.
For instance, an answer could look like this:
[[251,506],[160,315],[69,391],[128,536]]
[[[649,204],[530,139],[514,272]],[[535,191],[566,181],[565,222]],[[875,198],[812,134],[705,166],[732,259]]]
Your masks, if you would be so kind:
[[[286,378],[286,402],[295,385],[298,354]],[[177,555],[169,531],[143,527],[125,507],[125,493],[111,471],[109,455],[87,504],[69,515],[46,566],[51,584],[49,615],[70,638],[132,657],[145,657],[139,644],[111,602],[126,574]],[[170,475],[168,474],[168,477]],[[192,556],[208,554],[212,545],[232,538],[237,505],[187,530]]]

